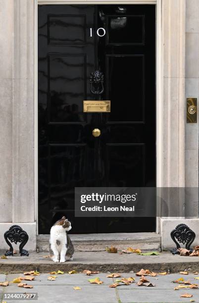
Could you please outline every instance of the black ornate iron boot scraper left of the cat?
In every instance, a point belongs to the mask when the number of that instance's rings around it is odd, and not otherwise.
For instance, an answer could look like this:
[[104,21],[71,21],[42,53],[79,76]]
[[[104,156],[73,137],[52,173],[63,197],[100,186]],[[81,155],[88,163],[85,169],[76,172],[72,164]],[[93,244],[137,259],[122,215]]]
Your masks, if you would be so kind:
[[9,251],[5,252],[5,255],[13,255],[13,247],[11,243],[20,243],[19,245],[19,253],[20,255],[29,255],[28,251],[23,250],[23,247],[28,242],[28,234],[19,226],[12,225],[9,230],[4,233],[4,239],[6,243],[9,245]]

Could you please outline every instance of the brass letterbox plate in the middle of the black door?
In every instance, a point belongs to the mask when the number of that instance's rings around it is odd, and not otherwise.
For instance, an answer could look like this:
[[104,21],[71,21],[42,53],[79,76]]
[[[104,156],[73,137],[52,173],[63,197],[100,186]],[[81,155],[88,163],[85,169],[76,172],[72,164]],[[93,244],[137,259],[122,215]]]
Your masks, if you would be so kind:
[[84,100],[84,112],[110,112],[110,101]]

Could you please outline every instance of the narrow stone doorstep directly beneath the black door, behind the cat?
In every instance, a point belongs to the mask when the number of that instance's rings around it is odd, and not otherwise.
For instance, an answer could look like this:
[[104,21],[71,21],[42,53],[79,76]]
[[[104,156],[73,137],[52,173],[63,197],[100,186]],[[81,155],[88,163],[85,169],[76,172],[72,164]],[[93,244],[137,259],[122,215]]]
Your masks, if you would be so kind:
[[[69,234],[70,235],[70,234]],[[107,246],[116,246],[118,250],[133,247],[141,250],[160,250],[161,237],[156,233],[107,233],[70,235],[76,252],[100,252]],[[49,235],[37,236],[39,252],[49,251]]]

